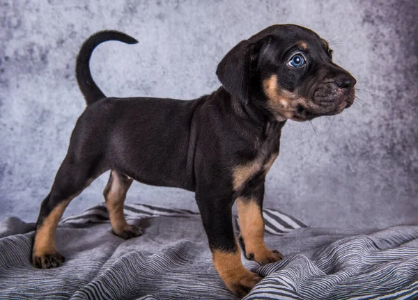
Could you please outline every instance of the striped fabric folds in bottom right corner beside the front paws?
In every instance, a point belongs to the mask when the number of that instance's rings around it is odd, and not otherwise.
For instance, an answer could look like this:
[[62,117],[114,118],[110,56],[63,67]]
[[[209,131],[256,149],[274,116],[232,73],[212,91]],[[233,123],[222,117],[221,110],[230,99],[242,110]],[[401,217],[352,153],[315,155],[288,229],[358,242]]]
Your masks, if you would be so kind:
[[418,226],[341,239],[257,269],[245,299],[418,299]]

